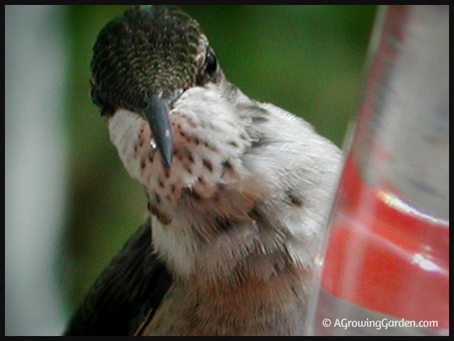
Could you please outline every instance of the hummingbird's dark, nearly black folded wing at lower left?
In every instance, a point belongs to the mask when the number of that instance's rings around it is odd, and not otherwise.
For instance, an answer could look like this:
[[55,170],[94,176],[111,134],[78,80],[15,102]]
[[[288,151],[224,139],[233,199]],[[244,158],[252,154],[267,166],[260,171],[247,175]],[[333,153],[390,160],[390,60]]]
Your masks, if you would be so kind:
[[153,250],[148,219],[96,279],[65,335],[131,335],[172,282]]

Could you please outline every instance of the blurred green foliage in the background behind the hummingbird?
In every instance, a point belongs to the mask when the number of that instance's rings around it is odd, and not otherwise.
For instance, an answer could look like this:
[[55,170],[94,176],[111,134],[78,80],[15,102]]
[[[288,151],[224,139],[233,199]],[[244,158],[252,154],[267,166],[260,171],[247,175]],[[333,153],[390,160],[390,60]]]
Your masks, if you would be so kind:
[[[297,114],[339,146],[360,95],[376,6],[182,6],[228,79]],[[70,214],[59,261],[67,311],[143,222],[143,189],[124,171],[89,97],[92,45],[126,6],[68,6]]]

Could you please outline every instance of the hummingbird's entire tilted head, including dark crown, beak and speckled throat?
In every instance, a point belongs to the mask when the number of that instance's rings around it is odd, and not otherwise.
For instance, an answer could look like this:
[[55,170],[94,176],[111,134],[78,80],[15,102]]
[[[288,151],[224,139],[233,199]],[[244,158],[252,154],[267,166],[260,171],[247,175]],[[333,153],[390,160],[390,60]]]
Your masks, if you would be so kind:
[[92,99],[150,203],[202,202],[244,173],[241,156],[252,140],[248,109],[238,114],[238,104],[253,104],[226,80],[189,15],[128,9],[99,33],[91,67]]

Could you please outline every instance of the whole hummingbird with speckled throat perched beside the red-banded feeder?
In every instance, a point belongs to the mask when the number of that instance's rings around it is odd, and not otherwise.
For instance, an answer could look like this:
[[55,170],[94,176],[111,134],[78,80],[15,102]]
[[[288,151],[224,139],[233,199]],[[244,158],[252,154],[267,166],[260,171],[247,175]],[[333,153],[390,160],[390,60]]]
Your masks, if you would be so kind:
[[341,150],[229,82],[177,7],[133,6],[107,23],[91,70],[149,215],[65,335],[303,335]]

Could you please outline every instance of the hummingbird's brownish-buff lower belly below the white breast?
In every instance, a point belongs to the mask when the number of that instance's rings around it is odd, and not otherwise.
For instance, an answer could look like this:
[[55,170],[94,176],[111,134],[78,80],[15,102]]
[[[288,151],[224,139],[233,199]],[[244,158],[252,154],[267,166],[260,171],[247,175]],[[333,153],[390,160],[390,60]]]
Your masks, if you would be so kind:
[[303,335],[302,288],[273,291],[247,287],[199,295],[174,284],[140,335]]

